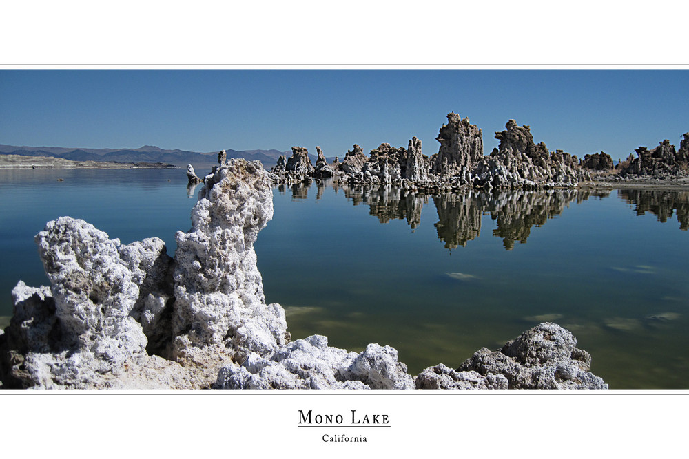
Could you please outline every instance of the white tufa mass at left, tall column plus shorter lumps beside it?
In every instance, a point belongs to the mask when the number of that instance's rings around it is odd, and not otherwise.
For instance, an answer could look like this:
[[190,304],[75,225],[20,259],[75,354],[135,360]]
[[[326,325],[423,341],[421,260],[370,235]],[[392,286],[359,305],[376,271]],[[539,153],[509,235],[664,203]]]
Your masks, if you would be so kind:
[[82,220],[49,222],[37,243],[52,287],[15,288],[3,381],[199,388],[233,358],[274,352],[289,337],[285,312],[265,304],[253,250],[271,216],[260,163],[230,160],[207,176],[174,263],[160,239],[123,246]]

